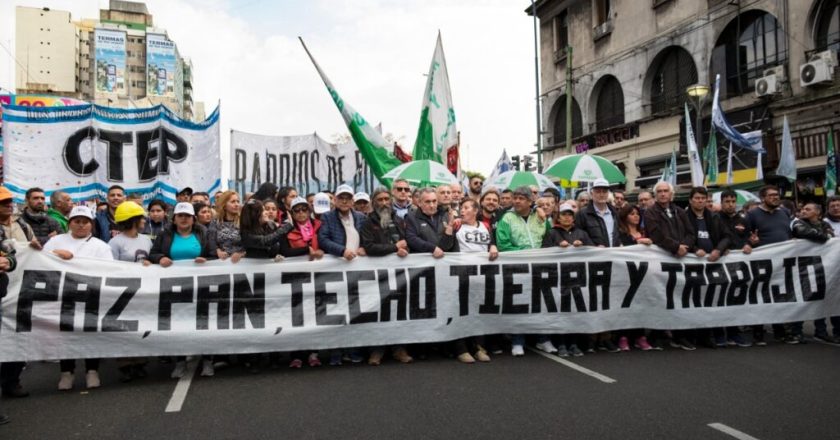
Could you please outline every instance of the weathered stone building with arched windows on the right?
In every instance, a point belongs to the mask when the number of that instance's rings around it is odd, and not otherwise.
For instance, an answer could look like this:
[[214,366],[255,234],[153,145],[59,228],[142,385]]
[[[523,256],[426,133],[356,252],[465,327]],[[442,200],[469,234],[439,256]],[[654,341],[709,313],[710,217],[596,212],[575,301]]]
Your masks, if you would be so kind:
[[[757,166],[773,180],[787,117],[800,193],[821,193],[828,137],[840,130],[838,0],[543,0],[535,6],[544,163],[569,153],[598,154],[615,162],[634,190],[652,187],[676,150],[678,184],[690,185],[685,105],[702,151],[719,75],[730,123],[741,132],[761,130],[767,150],[757,164],[757,155],[733,149],[733,183],[760,184]],[[525,12],[533,14],[532,7]],[[573,98],[569,146],[567,93]],[[716,141],[721,177],[713,184],[726,184],[728,143],[720,135]]]

